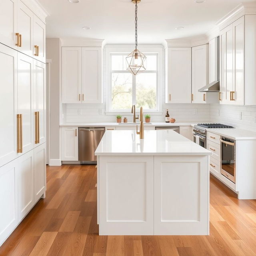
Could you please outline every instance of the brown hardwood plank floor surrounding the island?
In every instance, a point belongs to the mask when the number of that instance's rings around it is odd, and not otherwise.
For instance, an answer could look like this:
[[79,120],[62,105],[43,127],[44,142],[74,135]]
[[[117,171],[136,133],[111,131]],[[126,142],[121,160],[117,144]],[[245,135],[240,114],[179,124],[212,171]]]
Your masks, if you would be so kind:
[[0,247],[0,256],[253,256],[256,200],[210,180],[210,236],[98,236],[96,168],[47,168],[46,198]]

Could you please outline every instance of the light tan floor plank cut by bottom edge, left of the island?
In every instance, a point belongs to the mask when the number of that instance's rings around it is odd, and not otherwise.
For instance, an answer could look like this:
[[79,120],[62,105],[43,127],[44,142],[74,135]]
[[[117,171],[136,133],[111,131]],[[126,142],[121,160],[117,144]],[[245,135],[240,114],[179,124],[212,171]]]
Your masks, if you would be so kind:
[[58,232],[44,232],[29,256],[46,256]]

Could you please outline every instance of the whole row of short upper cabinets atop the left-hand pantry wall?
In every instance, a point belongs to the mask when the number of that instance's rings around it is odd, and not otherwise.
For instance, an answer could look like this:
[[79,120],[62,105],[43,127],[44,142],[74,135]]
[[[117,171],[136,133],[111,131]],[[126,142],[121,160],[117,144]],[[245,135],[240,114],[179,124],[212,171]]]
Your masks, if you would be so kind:
[[22,0],[1,0],[0,43],[45,62],[45,23]]

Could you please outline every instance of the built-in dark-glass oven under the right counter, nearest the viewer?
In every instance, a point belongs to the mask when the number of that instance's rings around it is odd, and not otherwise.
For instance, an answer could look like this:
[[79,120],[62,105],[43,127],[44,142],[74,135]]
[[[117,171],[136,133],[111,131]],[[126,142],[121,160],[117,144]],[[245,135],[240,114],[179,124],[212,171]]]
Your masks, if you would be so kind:
[[221,174],[236,183],[236,142],[220,138]]

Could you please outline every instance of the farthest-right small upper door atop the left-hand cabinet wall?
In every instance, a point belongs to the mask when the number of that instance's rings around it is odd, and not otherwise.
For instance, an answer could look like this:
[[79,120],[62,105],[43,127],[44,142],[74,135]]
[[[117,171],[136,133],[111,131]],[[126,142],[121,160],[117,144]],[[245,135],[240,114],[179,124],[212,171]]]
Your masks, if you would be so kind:
[[45,24],[36,15],[33,16],[33,50],[34,58],[45,63],[46,41]]

